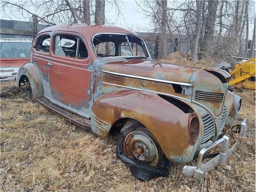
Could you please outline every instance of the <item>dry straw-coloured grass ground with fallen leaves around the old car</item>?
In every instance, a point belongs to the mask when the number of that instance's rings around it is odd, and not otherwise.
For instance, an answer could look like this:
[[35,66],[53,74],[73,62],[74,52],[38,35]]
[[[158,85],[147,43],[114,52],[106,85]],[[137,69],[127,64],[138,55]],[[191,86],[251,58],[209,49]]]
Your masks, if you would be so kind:
[[226,166],[198,181],[174,164],[167,178],[145,182],[116,158],[117,133],[101,140],[34,102],[29,88],[1,83],[0,91],[0,191],[255,191],[254,91],[237,92],[243,99],[237,122],[248,117],[248,136]]

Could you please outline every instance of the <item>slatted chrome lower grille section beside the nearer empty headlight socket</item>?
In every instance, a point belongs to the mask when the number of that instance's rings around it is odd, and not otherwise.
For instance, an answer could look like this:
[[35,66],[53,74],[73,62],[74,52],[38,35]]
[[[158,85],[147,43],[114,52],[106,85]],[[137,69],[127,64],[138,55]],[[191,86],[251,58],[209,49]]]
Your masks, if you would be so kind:
[[214,120],[210,116],[210,114],[206,114],[202,116],[204,122],[204,138],[203,142],[208,141],[212,136],[215,136],[215,125]]

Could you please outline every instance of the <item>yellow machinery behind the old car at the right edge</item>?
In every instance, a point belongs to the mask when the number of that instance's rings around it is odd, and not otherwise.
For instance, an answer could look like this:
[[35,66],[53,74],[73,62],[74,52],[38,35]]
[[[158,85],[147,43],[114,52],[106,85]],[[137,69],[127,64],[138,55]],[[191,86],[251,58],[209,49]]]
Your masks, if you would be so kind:
[[234,79],[228,82],[228,85],[235,84],[237,88],[255,90],[255,58],[236,64],[230,75],[234,76]]

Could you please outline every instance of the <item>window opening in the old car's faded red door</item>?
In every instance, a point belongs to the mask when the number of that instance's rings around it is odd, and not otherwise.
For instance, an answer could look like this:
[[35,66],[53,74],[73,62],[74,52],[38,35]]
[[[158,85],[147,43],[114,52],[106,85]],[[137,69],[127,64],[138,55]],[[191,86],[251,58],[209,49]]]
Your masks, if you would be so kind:
[[73,35],[56,35],[54,38],[54,54],[83,59],[88,57],[84,42]]

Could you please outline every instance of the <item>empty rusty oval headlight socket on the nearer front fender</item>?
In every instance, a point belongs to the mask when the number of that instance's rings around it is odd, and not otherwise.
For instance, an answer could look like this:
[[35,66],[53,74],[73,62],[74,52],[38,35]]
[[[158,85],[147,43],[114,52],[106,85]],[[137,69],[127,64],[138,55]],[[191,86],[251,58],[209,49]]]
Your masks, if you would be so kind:
[[188,118],[188,134],[192,144],[196,143],[198,132],[199,132],[199,120],[196,114],[192,113]]

